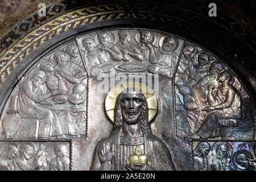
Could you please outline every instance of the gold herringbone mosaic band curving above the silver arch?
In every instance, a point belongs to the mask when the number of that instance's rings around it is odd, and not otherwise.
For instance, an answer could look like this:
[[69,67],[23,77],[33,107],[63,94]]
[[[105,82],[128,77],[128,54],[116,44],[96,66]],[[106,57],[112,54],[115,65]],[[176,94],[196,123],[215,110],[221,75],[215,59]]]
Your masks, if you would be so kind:
[[[176,12],[177,13],[177,12]],[[163,14],[151,13],[144,10],[137,12],[127,12],[122,5],[102,5],[76,10],[51,20],[43,26],[30,32],[20,40],[13,48],[7,51],[0,58],[0,85],[5,81],[10,72],[20,63],[27,55],[37,47],[52,39],[61,32],[71,30],[88,23],[100,22],[109,19],[137,18],[160,20],[162,22],[171,22],[171,18],[162,16]],[[184,23],[184,20],[182,20]],[[191,21],[190,19],[187,20]],[[179,22],[175,22],[179,23]],[[196,27],[196,24],[195,24]],[[197,27],[198,28],[198,27]],[[231,28],[232,29],[232,28]],[[218,34],[218,32],[216,32]]]

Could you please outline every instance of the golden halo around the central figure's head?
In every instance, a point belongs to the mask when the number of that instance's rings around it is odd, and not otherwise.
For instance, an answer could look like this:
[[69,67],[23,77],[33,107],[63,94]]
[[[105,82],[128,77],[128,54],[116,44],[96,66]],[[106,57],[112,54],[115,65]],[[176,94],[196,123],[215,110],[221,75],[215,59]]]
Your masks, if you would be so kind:
[[119,93],[127,88],[138,89],[144,94],[148,105],[148,122],[152,121],[158,109],[158,102],[156,100],[154,92],[148,86],[140,84],[138,82],[122,82],[121,84],[115,85],[114,88],[109,91],[105,99],[105,110],[110,121],[114,123],[114,109],[117,96],[119,95]]

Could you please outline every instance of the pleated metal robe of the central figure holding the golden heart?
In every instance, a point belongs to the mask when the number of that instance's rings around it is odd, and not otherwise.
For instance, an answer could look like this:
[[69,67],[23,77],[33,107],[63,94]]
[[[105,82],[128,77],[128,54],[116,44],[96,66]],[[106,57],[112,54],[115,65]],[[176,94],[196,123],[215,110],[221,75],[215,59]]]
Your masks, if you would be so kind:
[[[122,144],[120,137],[121,129],[115,131],[109,138],[101,140],[98,146],[102,146],[107,140],[114,143],[114,157],[111,161],[110,170],[123,171],[126,170],[129,155],[134,154],[135,144]],[[155,170],[170,171],[175,170],[174,163],[170,155],[170,151],[159,138],[152,135],[150,138],[143,136],[143,140],[139,141],[139,147],[144,155],[147,155],[148,165]],[[98,147],[97,147],[98,148]]]

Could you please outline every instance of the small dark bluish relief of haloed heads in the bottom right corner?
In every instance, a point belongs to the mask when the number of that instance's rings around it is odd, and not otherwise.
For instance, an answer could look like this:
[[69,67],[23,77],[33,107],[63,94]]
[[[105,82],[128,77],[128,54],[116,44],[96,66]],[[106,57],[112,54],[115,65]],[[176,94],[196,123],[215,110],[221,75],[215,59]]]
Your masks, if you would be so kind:
[[256,143],[197,142],[193,151],[193,169],[195,171],[256,171]]

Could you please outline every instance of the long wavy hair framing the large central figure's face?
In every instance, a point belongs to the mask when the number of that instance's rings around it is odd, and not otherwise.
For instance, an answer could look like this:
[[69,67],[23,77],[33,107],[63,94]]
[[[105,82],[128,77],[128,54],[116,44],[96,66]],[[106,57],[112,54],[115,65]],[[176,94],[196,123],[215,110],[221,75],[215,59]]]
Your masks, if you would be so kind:
[[[115,101],[115,111],[114,111],[114,131],[117,131],[122,127],[123,124],[123,117],[122,117],[122,110],[121,110],[121,98],[122,94],[125,90],[123,90],[119,95],[117,96],[117,100]],[[141,94],[143,100],[142,100],[142,110],[141,110],[141,116],[139,118],[139,122],[141,122],[141,130],[142,134],[149,138],[151,137],[151,131],[150,126],[148,124],[148,105],[147,100],[144,96],[144,94],[138,90],[135,89],[136,92]]]

